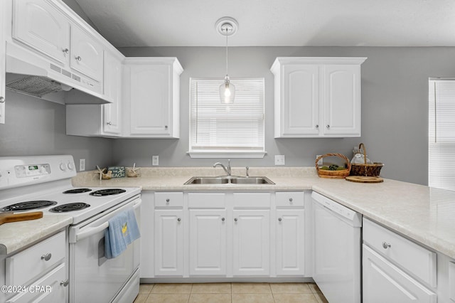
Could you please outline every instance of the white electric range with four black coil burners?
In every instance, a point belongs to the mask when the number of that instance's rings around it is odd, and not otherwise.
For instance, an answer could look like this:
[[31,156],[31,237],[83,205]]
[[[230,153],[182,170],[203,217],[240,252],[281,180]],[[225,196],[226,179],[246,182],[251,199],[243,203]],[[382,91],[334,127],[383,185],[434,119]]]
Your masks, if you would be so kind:
[[[69,302],[128,302],[139,292],[139,239],[107,259],[108,220],[133,208],[140,188],[76,188],[73,156],[0,157],[0,213],[72,216],[68,231]],[[39,220],[39,219],[38,219]]]

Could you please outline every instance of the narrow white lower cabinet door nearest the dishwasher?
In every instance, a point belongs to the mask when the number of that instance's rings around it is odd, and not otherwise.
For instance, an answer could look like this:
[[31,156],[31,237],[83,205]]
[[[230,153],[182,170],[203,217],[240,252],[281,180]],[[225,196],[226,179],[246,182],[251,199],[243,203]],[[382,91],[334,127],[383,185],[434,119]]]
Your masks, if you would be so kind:
[[304,275],[304,210],[277,210],[277,275]]

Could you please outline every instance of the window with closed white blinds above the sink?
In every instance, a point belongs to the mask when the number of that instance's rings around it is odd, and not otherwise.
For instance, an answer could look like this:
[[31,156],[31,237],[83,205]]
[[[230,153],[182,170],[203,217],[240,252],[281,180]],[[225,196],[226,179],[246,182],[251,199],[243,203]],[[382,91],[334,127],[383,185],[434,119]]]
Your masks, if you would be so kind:
[[190,155],[264,156],[264,79],[231,79],[235,100],[223,104],[223,79],[190,80]]

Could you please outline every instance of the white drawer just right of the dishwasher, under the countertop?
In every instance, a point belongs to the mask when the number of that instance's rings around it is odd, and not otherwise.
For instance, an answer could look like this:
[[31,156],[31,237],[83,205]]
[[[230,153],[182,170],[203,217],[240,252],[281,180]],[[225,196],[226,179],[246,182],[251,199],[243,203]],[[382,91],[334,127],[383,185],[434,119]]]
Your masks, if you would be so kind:
[[437,286],[436,253],[363,218],[363,242],[432,287]]

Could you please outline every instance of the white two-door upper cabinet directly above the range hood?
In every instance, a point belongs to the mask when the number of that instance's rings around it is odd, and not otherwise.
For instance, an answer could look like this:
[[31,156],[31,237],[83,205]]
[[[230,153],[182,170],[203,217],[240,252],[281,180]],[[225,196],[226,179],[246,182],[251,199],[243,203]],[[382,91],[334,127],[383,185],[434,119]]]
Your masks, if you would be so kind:
[[87,32],[92,28],[87,31],[82,28],[89,27],[70,18],[54,1],[14,0],[12,38],[38,50],[60,67],[71,68],[102,83],[102,43]]

